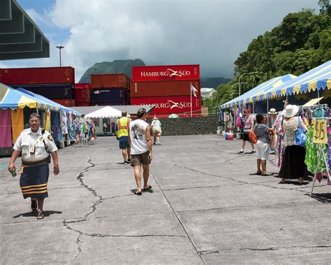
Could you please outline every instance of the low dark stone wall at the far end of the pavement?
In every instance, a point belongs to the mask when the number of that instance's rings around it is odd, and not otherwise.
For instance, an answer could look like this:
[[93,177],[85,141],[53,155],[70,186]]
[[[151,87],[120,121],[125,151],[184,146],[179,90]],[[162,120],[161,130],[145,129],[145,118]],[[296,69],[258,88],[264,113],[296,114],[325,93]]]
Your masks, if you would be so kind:
[[[216,134],[219,116],[159,119],[162,135]],[[149,124],[152,120],[146,120]]]

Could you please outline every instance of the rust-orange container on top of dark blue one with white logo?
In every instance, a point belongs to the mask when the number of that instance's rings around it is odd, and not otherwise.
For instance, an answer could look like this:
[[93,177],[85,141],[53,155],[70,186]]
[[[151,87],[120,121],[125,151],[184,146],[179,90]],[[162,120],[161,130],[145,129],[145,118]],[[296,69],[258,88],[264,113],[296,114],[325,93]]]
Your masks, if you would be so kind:
[[130,78],[124,73],[106,73],[101,75],[91,75],[91,87],[130,87]]

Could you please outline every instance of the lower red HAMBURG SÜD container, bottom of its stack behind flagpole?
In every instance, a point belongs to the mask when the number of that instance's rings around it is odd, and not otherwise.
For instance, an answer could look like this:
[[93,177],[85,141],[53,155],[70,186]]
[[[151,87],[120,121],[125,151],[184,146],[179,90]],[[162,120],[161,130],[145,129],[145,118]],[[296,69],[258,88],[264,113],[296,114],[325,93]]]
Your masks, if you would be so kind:
[[[153,113],[191,113],[190,96],[150,96],[131,98],[132,105],[154,105]],[[192,112],[201,112],[200,96],[192,96]]]

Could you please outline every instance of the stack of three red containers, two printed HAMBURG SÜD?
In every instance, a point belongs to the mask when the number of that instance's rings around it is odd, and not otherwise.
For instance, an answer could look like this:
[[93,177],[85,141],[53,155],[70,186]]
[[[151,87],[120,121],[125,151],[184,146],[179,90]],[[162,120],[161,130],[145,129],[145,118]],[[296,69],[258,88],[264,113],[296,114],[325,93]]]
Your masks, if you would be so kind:
[[[191,96],[191,85],[198,90]],[[191,103],[192,101],[192,103]],[[200,116],[200,67],[198,64],[172,66],[133,66],[131,103],[150,104],[150,116]]]

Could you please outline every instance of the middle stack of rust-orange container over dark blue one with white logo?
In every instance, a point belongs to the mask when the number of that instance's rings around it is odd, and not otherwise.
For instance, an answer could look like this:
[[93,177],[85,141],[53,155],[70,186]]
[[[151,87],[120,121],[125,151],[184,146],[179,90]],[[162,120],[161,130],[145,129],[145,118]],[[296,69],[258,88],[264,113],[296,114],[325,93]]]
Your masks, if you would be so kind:
[[124,73],[91,75],[91,105],[126,105],[130,99],[130,78]]

